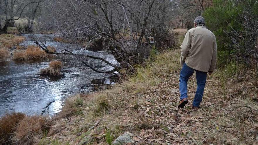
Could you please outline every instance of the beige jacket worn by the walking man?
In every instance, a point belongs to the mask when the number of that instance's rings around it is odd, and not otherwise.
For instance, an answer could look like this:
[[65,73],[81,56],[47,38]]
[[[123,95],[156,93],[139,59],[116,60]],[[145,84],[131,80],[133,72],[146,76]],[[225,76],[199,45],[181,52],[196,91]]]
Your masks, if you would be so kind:
[[205,25],[190,29],[181,45],[181,65],[186,63],[192,69],[214,71],[217,61],[217,43],[215,35]]

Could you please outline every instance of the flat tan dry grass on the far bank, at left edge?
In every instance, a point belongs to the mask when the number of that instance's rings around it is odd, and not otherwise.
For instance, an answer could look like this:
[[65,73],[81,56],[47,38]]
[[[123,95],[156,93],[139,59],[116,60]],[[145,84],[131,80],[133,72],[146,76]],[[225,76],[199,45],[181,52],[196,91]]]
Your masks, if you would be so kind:
[[15,45],[19,45],[19,43],[23,42],[25,37],[23,36],[14,36],[11,34],[2,34],[0,35],[0,48],[12,48]]

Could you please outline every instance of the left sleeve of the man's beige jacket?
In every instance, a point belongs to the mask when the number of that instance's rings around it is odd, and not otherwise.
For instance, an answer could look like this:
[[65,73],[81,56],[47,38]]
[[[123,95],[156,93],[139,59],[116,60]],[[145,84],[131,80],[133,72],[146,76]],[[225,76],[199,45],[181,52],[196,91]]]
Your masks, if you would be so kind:
[[189,52],[189,50],[191,48],[191,41],[192,41],[192,36],[191,36],[190,32],[188,31],[186,33],[184,41],[183,41],[183,43],[181,45],[181,59],[180,59],[181,65],[184,64],[184,61],[185,61],[185,59],[186,59],[186,57],[188,55],[188,52]]

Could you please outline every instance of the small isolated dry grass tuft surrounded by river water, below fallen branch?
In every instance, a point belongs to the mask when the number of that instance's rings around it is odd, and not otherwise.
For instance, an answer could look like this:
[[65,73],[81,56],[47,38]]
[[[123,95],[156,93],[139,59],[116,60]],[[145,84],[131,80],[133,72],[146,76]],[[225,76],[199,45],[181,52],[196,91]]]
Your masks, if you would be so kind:
[[51,61],[49,63],[49,67],[45,69],[41,69],[41,74],[47,74],[50,76],[60,76],[62,69],[62,62],[61,61]]

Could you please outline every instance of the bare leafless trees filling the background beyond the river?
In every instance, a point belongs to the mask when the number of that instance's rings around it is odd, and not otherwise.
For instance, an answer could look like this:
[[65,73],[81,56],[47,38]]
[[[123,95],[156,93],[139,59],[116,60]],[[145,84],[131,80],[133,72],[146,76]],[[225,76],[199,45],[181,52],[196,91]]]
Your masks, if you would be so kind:
[[0,0],[0,20],[4,20],[0,33],[20,18],[27,19],[24,30],[31,32],[36,19],[40,30],[56,30],[74,42],[86,43],[85,48],[103,47],[120,68],[128,68],[144,63],[153,47],[172,47],[171,23],[184,22],[190,28],[207,1]]

